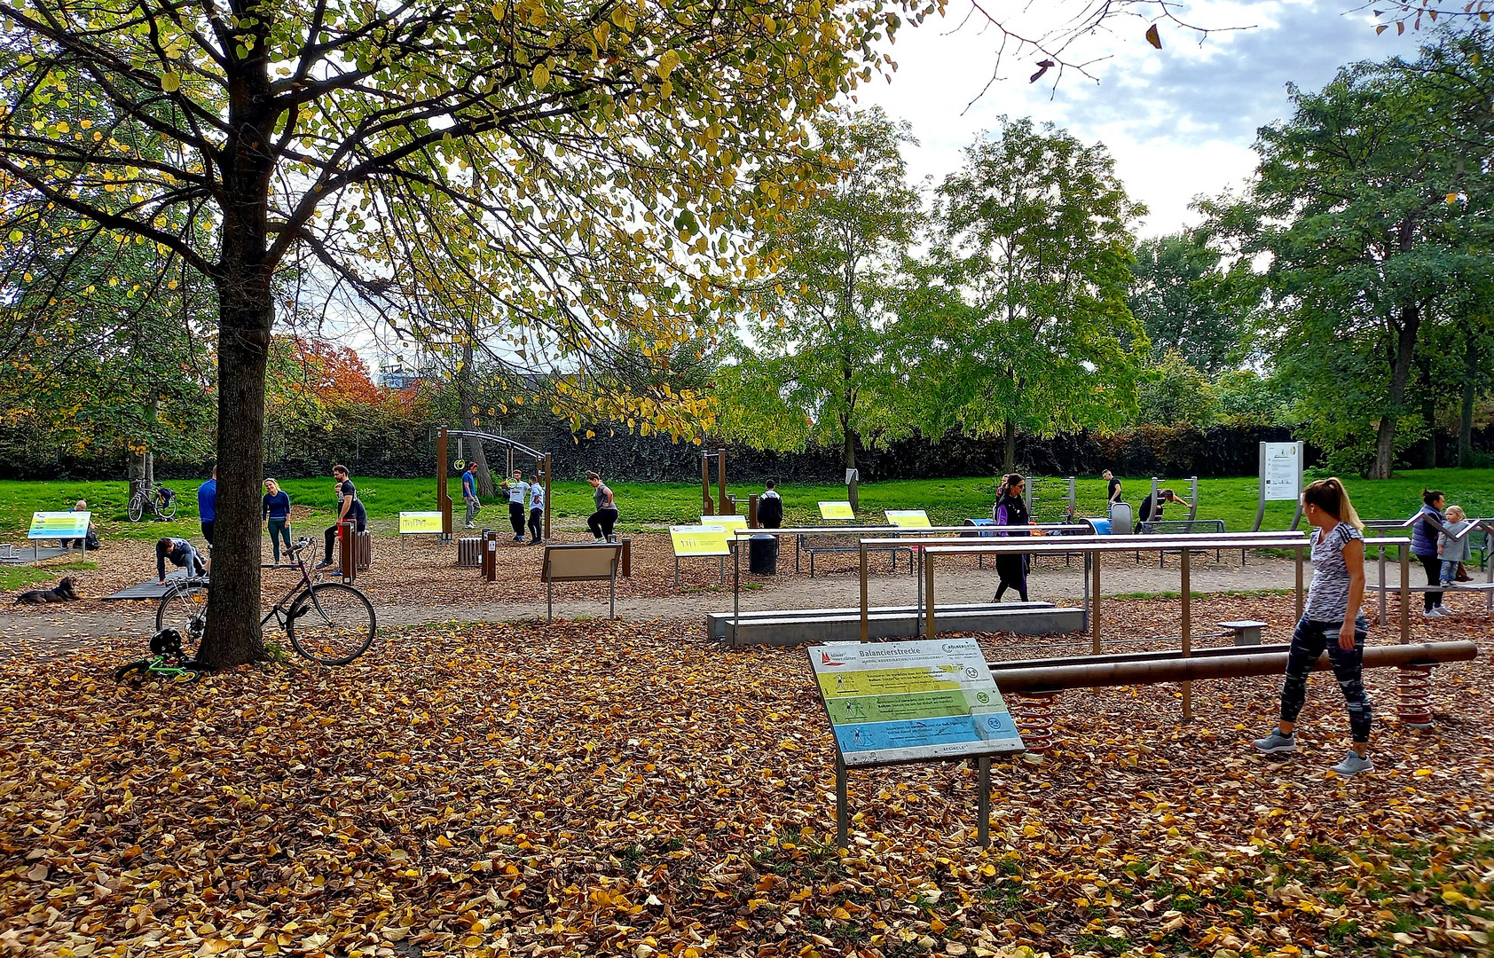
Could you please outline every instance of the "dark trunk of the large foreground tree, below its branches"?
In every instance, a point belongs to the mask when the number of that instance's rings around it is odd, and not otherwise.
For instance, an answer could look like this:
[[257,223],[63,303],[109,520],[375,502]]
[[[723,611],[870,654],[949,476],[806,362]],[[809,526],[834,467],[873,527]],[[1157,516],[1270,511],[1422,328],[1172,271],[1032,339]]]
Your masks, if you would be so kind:
[[266,658],[260,634],[260,483],[273,321],[267,275],[241,272],[218,284],[218,517],[212,523],[208,631],[197,653],[212,668]]

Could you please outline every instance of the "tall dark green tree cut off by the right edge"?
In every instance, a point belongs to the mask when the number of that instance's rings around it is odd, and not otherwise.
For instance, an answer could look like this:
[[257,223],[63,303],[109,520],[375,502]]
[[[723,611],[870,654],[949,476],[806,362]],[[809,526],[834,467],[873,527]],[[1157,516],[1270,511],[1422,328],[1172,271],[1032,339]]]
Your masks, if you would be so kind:
[[[1250,203],[1222,212],[1265,281],[1279,375],[1312,436],[1371,478],[1430,426],[1433,327],[1487,285],[1490,31],[1439,31],[1416,63],[1360,63],[1262,127]],[[1424,381],[1424,380],[1422,380]]]

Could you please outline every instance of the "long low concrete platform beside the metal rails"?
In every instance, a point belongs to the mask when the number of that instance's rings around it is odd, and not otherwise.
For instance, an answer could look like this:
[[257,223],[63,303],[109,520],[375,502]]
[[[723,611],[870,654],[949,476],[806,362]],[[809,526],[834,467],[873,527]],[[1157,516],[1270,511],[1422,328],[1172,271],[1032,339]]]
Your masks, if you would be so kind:
[[[867,619],[871,638],[913,638],[923,631],[914,605],[881,605],[870,610]],[[934,626],[940,632],[1079,632],[1085,628],[1085,610],[1052,602],[937,605]],[[853,643],[861,640],[861,608],[759,610],[743,613],[735,626],[731,613],[707,613],[705,631],[729,646]]]

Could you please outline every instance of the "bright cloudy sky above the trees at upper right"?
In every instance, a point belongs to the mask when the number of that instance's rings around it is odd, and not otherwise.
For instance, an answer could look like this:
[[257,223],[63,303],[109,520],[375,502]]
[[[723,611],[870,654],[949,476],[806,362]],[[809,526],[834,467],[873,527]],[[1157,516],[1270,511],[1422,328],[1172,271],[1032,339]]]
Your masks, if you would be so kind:
[[[890,48],[898,63],[893,81],[877,79],[859,91],[861,105],[880,105],[913,124],[919,146],[905,154],[911,176],[938,181],[956,170],[961,149],[995,129],[1002,114],[1052,121],[1110,149],[1126,190],[1150,209],[1143,235],[1195,223],[1188,209],[1195,196],[1237,188],[1249,176],[1256,127],[1289,111],[1286,84],[1318,88],[1340,64],[1412,57],[1419,42],[1410,30],[1403,37],[1394,28],[1376,36],[1376,21],[1367,9],[1355,10],[1355,0],[1203,0],[1177,9],[1180,19],[1215,28],[1207,36],[1162,24],[1156,51],[1143,39],[1146,21],[1118,18],[1109,33],[1071,49],[1071,58],[1098,60],[1089,67],[1094,79],[1070,72],[1056,90],[1052,73],[1028,84],[1043,58],[1028,51],[1008,57],[1002,79],[982,96],[999,34],[977,18],[961,24],[968,3],[950,0],[943,21],[902,31]],[[982,6],[1011,12],[1013,30],[1035,34],[1079,3]]]

